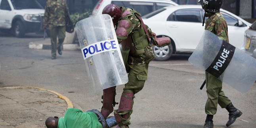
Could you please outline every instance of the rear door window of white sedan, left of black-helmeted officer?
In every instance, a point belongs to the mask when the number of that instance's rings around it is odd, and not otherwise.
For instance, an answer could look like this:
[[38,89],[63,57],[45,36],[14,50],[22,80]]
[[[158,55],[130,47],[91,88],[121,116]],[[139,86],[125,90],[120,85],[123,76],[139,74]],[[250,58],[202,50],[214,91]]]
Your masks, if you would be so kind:
[[201,22],[200,10],[178,10],[169,15],[167,21]]

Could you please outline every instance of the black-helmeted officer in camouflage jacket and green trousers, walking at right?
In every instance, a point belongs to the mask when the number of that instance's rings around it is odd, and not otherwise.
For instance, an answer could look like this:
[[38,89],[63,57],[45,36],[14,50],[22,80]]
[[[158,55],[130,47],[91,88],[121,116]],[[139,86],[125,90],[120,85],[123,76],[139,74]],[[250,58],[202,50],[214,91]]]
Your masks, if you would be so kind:
[[[201,0],[199,0],[200,2]],[[205,10],[204,17],[208,17],[205,25],[205,30],[208,30],[223,40],[229,42],[227,34],[227,23],[223,15],[220,13],[223,0],[202,0],[202,8]],[[204,21],[203,21],[204,25]],[[243,113],[236,109],[230,99],[225,96],[222,91],[222,81],[215,76],[205,72],[206,92],[208,99],[205,104],[205,113],[207,114],[204,128],[213,128],[213,115],[216,114],[217,105],[227,109],[229,112],[229,120],[226,126],[233,124],[237,117]]]

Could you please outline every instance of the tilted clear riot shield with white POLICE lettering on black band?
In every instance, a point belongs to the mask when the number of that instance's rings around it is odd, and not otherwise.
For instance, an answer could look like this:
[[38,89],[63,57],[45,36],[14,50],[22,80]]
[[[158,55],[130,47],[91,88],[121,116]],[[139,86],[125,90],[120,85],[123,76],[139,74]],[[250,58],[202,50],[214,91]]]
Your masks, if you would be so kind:
[[256,80],[256,59],[205,30],[189,63],[214,75],[240,92],[247,92]]

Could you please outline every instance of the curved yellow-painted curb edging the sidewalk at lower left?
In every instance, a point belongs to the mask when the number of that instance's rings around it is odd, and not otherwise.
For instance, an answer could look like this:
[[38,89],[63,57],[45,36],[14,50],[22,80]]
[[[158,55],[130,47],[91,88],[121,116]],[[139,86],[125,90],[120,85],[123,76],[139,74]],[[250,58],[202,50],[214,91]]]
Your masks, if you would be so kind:
[[[5,87],[5,88],[7,88],[7,89],[9,89],[9,88],[10,88],[10,89],[11,89],[11,88],[35,88],[35,89],[40,89],[40,90],[48,91],[48,92],[51,92],[51,93],[53,93],[53,94],[59,96],[59,98],[65,100],[65,102],[67,103],[67,109],[68,109],[68,108],[74,108],[73,103],[71,102],[71,100],[70,100],[68,97],[63,96],[63,95],[61,95],[61,94],[59,94],[59,93],[57,93],[57,92],[55,92],[55,91],[52,91],[52,90],[46,90],[46,89],[44,89],[44,88],[37,88],[37,87],[31,87],[31,86],[24,86],[24,87]],[[5,88],[0,88],[0,89],[5,89]]]

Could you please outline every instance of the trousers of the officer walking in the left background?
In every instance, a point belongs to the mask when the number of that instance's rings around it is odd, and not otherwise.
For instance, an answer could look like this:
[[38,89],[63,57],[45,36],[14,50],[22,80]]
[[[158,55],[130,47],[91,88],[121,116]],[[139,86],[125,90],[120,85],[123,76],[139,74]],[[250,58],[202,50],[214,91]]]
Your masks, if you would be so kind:
[[[52,46],[52,57],[56,57],[56,50],[61,47],[65,39],[65,26],[49,27],[51,46]],[[57,43],[58,38],[58,43]]]

